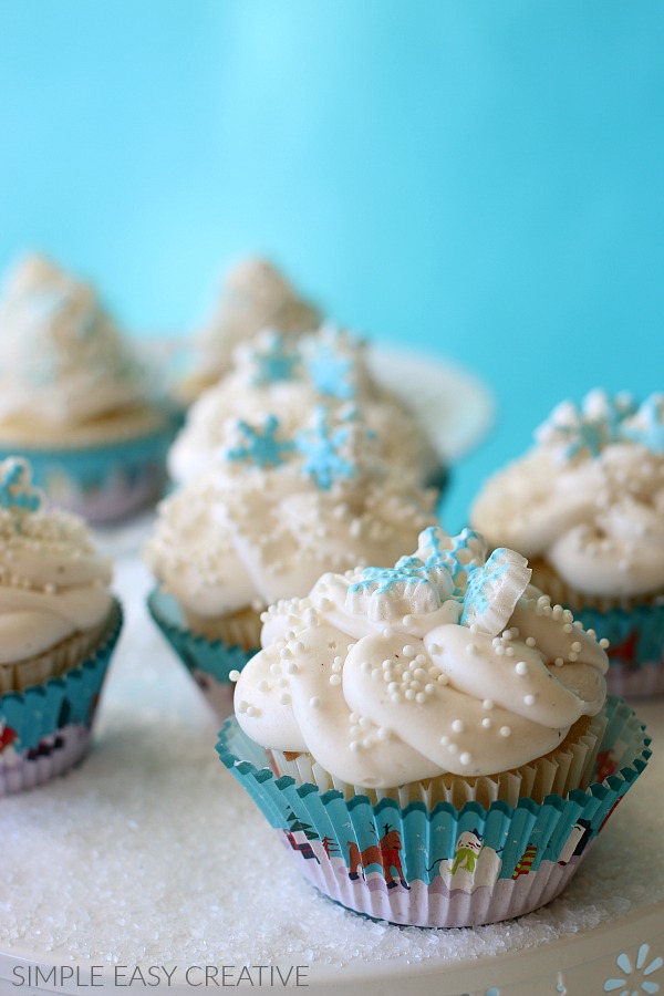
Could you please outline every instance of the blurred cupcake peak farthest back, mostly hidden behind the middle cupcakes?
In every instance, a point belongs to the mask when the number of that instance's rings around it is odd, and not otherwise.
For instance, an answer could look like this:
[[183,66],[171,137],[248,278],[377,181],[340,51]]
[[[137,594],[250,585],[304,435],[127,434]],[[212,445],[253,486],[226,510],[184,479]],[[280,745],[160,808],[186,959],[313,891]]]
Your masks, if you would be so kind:
[[276,329],[290,340],[315,329],[320,319],[318,308],[273,263],[242,260],[226,276],[215,311],[197,336],[195,370],[176,395],[184,404],[195,401],[228,373],[236,346],[263,329]]

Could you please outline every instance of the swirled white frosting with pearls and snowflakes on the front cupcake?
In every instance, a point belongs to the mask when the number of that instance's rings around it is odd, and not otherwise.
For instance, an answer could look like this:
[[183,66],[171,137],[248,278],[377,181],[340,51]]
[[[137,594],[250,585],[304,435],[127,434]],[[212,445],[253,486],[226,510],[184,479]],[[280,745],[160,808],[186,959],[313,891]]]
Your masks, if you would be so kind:
[[606,654],[508,549],[426,529],[393,569],[324,574],[264,613],[236,675],[251,739],[350,785],[494,775],[543,756],[604,703]]

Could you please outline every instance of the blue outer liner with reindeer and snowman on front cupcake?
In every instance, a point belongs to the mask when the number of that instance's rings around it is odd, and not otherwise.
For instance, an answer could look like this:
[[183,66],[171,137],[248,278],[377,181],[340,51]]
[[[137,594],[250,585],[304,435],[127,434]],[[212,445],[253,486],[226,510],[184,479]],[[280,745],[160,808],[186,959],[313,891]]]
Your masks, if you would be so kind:
[[313,885],[357,913],[432,927],[495,923],[550,902],[651,755],[645,728],[610,697],[588,789],[550,795],[539,805],[522,798],[487,808],[475,801],[402,806],[276,777],[268,751],[235,718],[219,736],[221,761]]

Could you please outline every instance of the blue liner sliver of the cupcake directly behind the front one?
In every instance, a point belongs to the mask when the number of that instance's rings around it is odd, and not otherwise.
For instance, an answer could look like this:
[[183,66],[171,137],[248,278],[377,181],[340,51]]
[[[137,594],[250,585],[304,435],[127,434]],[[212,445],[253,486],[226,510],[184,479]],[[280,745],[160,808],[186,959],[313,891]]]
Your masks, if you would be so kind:
[[221,640],[208,640],[207,636],[191,633],[185,625],[176,600],[159,588],[149,593],[147,608],[218,718],[226,719],[232,713],[235,691],[230,672],[241,671],[258,647],[245,651],[239,644],[227,644]]

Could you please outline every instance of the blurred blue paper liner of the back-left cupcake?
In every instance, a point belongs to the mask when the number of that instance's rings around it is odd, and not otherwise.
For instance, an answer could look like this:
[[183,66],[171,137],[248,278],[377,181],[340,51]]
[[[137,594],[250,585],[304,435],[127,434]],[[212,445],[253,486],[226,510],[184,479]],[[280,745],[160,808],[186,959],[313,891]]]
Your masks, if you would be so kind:
[[55,448],[2,446],[0,459],[24,456],[33,483],[59,508],[101,523],[122,519],[156,501],[166,484],[173,425],[134,439]]

